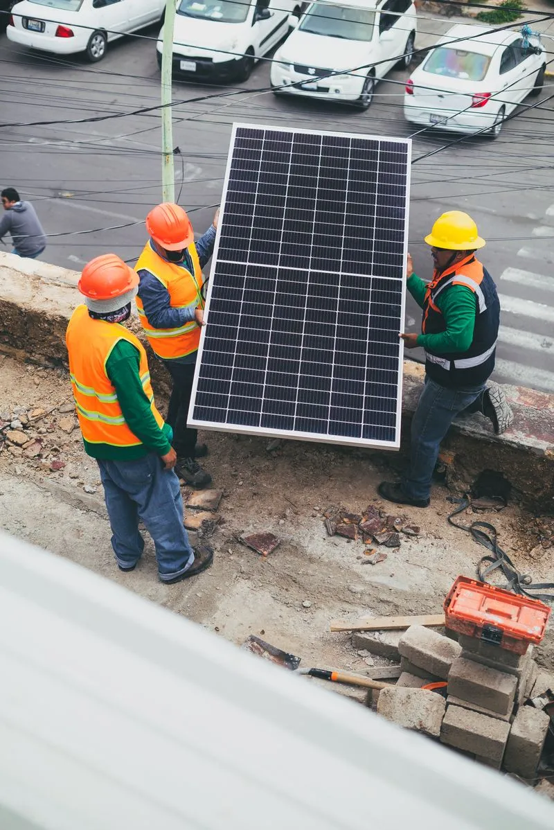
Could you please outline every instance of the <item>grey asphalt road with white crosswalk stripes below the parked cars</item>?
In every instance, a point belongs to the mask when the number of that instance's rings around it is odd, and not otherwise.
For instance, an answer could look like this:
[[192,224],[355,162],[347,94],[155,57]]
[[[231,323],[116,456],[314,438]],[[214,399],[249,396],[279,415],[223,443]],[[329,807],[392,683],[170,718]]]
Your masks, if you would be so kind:
[[[117,41],[95,66],[80,56],[61,60],[24,51],[0,36],[0,124],[59,122],[0,126],[2,187],[11,184],[32,199],[46,232],[59,234],[51,237],[41,259],[79,269],[104,251],[127,260],[139,255],[141,222],[161,199],[159,110],[67,122],[156,107],[160,76],[154,43],[148,40],[156,34],[146,30],[146,38]],[[221,198],[234,121],[410,136],[416,128],[401,110],[407,76],[392,72],[365,113],[276,98],[268,91],[267,63],[241,86],[176,82],[177,193],[183,206],[194,211],[195,230],[208,227]],[[545,86],[542,98],[552,92],[554,85]],[[482,260],[497,281],[503,305],[496,377],[554,392],[552,134],[550,101],[533,110],[520,108],[496,141],[418,132],[413,138],[410,249],[416,273],[430,276],[422,237],[445,210],[471,213],[488,240]],[[410,300],[406,330],[415,331],[419,320]],[[420,349],[411,354],[422,358]]]

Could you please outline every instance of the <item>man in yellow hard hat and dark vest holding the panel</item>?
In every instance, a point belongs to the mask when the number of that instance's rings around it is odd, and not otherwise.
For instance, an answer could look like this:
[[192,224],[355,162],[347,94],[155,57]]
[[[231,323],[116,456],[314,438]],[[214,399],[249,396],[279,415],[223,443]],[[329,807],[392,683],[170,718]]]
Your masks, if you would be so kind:
[[421,334],[401,334],[407,349],[425,349],[425,386],[411,422],[411,462],[401,481],[382,481],[380,495],[396,504],[426,507],[440,442],[459,413],[482,412],[494,431],[513,422],[501,387],[489,383],[500,323],[493,278],[475,257],[484,247],[467,213],[443,213],[430,234],[435,266],[429,283],[414,274],[408,254],[407,288],[423,309]]

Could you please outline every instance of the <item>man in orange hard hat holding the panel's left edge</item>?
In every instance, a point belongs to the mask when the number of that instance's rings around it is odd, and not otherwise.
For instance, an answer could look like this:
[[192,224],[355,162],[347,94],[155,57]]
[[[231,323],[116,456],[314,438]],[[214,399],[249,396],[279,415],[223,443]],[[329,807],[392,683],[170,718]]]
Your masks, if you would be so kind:
[[207,447],[197,443],[196,429],[187,427],[187,414],[203,325],[202,268],[213,252],[218,216],[216,211],[211,227],[194,242],[182,207],[171,203],[154,207],[146,217],[150,238],[135,266],[140,278],[140,320],[154,354],[173,378],[168,422],[177,451],[175,470],[197,488],[207,487],[211,476],[197,461],[207,454]]

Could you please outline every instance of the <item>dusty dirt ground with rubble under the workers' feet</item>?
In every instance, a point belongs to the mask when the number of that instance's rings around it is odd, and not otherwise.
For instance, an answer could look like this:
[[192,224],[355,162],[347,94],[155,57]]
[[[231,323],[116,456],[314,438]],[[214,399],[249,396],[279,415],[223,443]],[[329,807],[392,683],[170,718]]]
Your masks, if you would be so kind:
[[[202,438],[210,455],[205,466],[223,491],[221,522],[210,540],[216,550],[213,567],[195,579],[163,585],[147,538],[137,569],[122,574],[111,552],[98,468],[85,455],[70,401],[62,369],[0,356],[0,429],[2,418],[5,424],[5,416],[18,417],[27,439],[40,442],[30,450],[0,443],[0,527],[233,642],[255,633],[298,654],[303,666],[363,672],[364,657],[347,634],[329,632],[331,619],[440,612],[455,577],[474,576],[486,552],[447,523],[450,494],[437,485],[430,508],[401,511],[420,526],[420,535],[401,535],[400,548],[383,549],[386,561],[362,564],[365,545],[329,538],[323,511],[329,504],[356,512],[369,504],[386,507],[377,500],[376,486],[394,478],[399,455],[296,441],[270,451],[268,438],[206,432]],[[44,415],[36,413],[39,408]],[[31,422],[24,423],[26,418]],[[35,457],[27,457],[33,452]],[[522,572],[537,582],[553,578],[554,527],[548,521],[517,505],[461,519],[493,522],[500,544]],[[267,558],[238,541],[242,533],[263,530],[280,539]],[[551,637],[542,662],[552,666],[553,652]]]

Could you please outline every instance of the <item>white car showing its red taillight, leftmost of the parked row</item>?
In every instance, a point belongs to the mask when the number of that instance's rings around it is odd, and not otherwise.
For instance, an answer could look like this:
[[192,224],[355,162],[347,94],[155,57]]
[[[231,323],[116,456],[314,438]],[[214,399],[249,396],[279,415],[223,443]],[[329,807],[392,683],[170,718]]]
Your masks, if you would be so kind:
[[100,61],[108,42],[163,20],[165,0],[22,0],[12,8],[10,41]]

